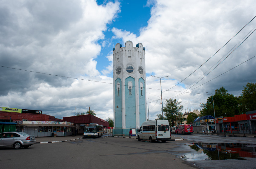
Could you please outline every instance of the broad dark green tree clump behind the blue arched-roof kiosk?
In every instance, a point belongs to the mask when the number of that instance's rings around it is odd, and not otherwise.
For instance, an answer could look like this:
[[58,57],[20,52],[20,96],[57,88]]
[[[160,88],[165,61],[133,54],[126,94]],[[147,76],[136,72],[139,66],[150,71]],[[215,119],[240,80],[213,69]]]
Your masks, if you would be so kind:
[[[239,111],[239,99],[232,94],[227,93],[228,91],[224,87],[220,87],[215,90],[214,96],[209,96],[206,104],[201,103],[200,106],[203,107],[200,115],[212,115],[215,117],[219,116],[234,116],[241,114]],[[214,109],[213,109],[214,100]]]

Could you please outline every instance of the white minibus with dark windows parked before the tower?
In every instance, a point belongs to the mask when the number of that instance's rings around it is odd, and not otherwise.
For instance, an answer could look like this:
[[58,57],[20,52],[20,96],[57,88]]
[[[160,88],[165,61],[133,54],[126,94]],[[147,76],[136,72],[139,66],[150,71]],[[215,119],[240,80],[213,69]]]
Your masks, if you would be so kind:
[[138,129],[138,141],[147,139],[150,142],[161,140],[163,143],[171,139],[168,120],[150,120],[141,124]]

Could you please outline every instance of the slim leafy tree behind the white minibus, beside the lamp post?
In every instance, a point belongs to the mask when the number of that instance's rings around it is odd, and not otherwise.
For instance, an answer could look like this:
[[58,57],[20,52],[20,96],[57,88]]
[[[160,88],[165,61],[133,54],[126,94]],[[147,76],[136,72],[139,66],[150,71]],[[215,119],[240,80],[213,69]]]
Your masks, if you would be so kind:
[[182,116],[181,110],[183,109],[183,106],[180,105],[180,103],[181,101],[177,101],[176,99],[166,99],[166,107],[163,107],[163,111],[164,116],[169,120],[171,126],[175,126]]

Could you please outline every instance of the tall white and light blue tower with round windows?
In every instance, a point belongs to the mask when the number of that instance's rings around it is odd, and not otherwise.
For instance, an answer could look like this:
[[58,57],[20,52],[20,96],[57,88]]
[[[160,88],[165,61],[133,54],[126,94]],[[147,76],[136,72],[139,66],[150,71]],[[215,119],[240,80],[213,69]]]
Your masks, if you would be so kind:
[[127,135],[139,129],[147,120],[145,48],[131,41],[125,47],[113,48],[114,64],[114,130],[115,135]]

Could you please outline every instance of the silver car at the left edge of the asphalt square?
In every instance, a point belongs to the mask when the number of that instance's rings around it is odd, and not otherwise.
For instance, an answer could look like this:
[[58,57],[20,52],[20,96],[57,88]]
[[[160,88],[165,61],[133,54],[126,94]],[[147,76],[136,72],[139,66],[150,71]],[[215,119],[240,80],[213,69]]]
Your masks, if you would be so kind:
[[36,137],[23,132],[4,132],[0,134],[0,147],[28,148],[36,143]]

